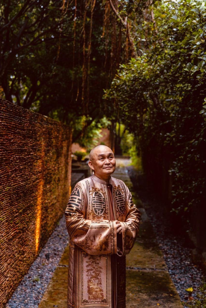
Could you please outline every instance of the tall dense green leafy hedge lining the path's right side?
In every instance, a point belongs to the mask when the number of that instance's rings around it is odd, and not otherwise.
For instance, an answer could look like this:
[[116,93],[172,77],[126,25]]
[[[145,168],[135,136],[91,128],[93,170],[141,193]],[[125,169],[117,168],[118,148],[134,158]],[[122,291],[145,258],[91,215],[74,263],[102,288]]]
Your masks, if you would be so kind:
[[158,1],[148,12],[139,56],[120,66],[105,98],[137,136],[154,190],[189,222],[205,201],[206,6]]

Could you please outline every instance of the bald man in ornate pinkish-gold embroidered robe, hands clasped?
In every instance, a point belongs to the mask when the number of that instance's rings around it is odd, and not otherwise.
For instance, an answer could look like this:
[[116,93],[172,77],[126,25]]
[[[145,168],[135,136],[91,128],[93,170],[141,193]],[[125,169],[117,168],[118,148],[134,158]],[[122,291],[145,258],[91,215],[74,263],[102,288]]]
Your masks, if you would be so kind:
[[65,210],[70,237],[67,308],[125,308],[126,259],[140,212],[104,145],[90,152],[94,175],[76,184]]

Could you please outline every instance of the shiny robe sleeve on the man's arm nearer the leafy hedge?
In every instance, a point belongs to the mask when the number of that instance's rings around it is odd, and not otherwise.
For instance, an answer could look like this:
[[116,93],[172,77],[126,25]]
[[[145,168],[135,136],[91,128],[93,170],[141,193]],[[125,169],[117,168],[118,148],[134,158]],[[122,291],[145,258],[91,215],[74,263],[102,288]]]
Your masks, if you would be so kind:
[[[125,185],[126,186],[126,185]],[[141,213],[137,209],[136,205],[134,205],[132,201],[132,194],[130,193],[128,187],[126,186],[127,191],[127,214],[125,221],[120,221],[122,225],[122,247],[121,250],[117,251],[118,256],[124,256],[130,252],[132,249],[140,225],[140,217]],[[119,234],[118,234],[119,235]]]

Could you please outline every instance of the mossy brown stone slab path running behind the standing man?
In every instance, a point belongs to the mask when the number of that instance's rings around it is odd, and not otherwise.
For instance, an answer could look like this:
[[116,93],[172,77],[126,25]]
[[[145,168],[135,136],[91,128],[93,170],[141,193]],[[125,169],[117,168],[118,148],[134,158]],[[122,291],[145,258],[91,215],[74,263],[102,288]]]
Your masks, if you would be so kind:
[[[127,160],[127,163],[129,160]],[[124,159],[120,161],[121,166]],[[124,168],[118,168],[114,177],[124,179],[132,187]],[[136,204],[141,205],[137,194],[133,193]],[[175,286],[167,271],[162,252],[155,238],[155,232],[141,207],[140,233],[132,251],[126,257],[127,265],[127,308],[182,308]],[[67,273],[69,245],[61,257],[39,308],[66,308]]]

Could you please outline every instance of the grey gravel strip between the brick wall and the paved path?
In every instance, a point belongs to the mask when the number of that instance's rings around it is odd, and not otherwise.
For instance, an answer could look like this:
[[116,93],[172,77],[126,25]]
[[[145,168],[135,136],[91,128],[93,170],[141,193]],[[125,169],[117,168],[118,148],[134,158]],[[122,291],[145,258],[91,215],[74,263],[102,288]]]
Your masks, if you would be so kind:
[[37,308],[56,269],[66,245],[69,243],[63,216],[51,237],[31,265],[6,308]]

